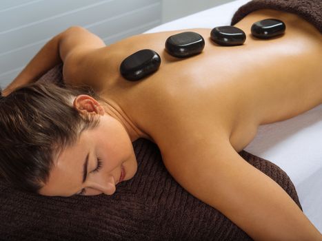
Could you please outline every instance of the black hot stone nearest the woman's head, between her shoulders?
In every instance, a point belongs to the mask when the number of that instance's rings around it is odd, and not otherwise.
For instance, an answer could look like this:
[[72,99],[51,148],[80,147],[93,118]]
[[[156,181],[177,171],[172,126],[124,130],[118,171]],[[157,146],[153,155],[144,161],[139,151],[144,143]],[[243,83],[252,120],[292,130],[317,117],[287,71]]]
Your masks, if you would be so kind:
[[139,50],[124,59],[120,72],[128,81],[138,81],[159,69],[161,58],[153,50]]

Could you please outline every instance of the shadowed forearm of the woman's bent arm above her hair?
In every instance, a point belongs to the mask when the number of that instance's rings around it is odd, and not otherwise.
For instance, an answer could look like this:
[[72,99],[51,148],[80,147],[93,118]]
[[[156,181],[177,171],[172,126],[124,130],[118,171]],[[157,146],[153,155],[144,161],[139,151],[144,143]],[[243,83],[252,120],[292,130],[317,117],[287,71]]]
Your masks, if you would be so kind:
[[2,95],[7,96],[17,87],[37,81],[43,74],[55,65],[61,63],[59,56],[60,35],[54,36],[39,52],[32,58],[26,67],[16,78],[3,90]]

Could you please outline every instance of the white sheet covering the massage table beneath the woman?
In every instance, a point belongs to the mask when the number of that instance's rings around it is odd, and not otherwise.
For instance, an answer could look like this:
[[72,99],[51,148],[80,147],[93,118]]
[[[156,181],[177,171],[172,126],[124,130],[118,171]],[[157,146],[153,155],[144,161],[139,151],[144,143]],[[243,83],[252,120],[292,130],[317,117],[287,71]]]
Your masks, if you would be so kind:
[[[148,32],[230,25],[234,12],[248,0],[197,12]],[[283,169],[296,187],[303,212],[322,233],[322,105],[287,121],[262,125],[245,148]]]

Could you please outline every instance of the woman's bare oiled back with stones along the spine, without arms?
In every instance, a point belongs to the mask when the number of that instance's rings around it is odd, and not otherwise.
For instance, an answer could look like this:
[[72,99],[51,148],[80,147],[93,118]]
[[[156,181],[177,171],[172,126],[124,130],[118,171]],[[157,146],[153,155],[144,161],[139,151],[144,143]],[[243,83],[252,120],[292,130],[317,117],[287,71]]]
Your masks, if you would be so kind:
[[[255,21],[274,17],[286,24],[283,36],[254,39]],[[237,25],[244,45],[223,47],[210,40],[209,29],[194,29],[205,39],[197,56],[177,59],[164,50],[168,36],[180,31],[141,34],[75,56],[64,65],[66,81],[91,79],[103,98],[114,102],[161,151],[190,138],[229,138],[241,151],[257,127],[291,118],[319,105],[322,98],[321,34],[295,14],[275,10],[252,12]],[[142,81],[126,81],[119,65],[145,48],[157,51],[161,67]],[[70,58],[72,59],[72,58]],[[76,61],[70,61],[76,65]],[[220,140],[218,140],[220,141]],[[178,151],[178,150],[177,150]]]

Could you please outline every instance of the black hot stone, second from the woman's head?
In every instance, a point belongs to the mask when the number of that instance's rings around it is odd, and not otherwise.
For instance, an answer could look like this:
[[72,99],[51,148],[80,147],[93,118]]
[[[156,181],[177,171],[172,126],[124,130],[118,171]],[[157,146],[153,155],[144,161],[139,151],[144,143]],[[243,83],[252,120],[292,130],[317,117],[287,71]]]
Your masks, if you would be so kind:
[[205,40],[197,32],[181,32],[168,37],[165,41],[165,49],[178,58],[199,54],[204,47]]

